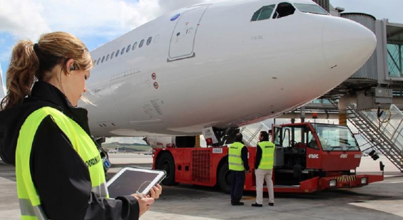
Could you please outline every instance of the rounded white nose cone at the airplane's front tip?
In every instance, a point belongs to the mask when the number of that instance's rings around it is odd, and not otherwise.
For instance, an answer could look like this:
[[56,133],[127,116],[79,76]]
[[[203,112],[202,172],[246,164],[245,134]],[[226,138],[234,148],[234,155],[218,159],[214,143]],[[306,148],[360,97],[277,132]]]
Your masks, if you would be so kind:
[[322,48],[330,72],[348,78],[372,55],[376,37],[361,24],[330,17],[324,22]]

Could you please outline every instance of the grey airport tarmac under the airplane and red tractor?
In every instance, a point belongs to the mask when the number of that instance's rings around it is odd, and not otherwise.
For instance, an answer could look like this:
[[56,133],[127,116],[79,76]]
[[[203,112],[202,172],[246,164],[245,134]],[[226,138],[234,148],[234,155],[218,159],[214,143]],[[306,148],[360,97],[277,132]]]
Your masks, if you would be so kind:
[[[126,166],[151,168],[150,155],[113,154],[108,177]],[[217,188],[179,184],[163,186],[160,197],[141,219],[403,219],[403,173],[386,158],[372,161],[363,157],[357,172],[379,174],[379,161],[385,167],[385,180],[362,188],[314,193],[275,193],[275,206],[251,207],[254,192],[245,192],[243,206],[230,205],[228,194]],[[0,161],[0,219],[20,219],[15,169]]]

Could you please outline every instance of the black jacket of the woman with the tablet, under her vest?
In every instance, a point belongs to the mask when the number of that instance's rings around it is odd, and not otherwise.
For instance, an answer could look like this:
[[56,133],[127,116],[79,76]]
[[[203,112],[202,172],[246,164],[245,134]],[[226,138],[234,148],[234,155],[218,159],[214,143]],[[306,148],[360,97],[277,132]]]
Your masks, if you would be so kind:
[[[36,82],[31,95],[18,106],[0,112],[0,156],[15,165],[20,128],[35,110],[50,106],[77,122],[91,136],[87,110],[72,107],[63,93]],[[139,204],[132,196],[97,198],[90,173],[80,155],[48,116],[38,127],[30,157],[31,176],[42,207],[50,219],[138,219]]]

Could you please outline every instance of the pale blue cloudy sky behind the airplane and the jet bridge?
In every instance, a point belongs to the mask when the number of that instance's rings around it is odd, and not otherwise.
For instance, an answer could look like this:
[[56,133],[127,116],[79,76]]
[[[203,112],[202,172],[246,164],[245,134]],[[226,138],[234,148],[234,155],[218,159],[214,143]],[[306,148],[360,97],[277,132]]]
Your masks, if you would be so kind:
[[[90,50],[165,13],[209,0],[0,0],[0,63],[3,75],[20,39],[36,42],[43,33],[65,31]],[[402,0],[330,0],[346,12],[402,23]],[[5,79],[5,78],[4,78]],[[129,140],[129,142],[133,139]]]

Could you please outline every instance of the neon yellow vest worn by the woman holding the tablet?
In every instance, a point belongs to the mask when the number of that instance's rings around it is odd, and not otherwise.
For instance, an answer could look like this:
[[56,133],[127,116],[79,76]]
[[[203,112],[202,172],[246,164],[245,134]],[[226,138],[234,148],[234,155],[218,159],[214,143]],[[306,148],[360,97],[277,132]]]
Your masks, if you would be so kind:
[[74,150],[87,165],[91,177],[91,191],[98,197],[109,197],[101,156],[91,137],[80,125],[63,113],[51,107],[42,107],[28,116],[21,126],[17,140],[16,177],[21,219],[48,219],[41,207],[40,198],[32,182],[30,171],[32,143],[39,125],[47,116],[51,116],[54,123],[70,140]]

